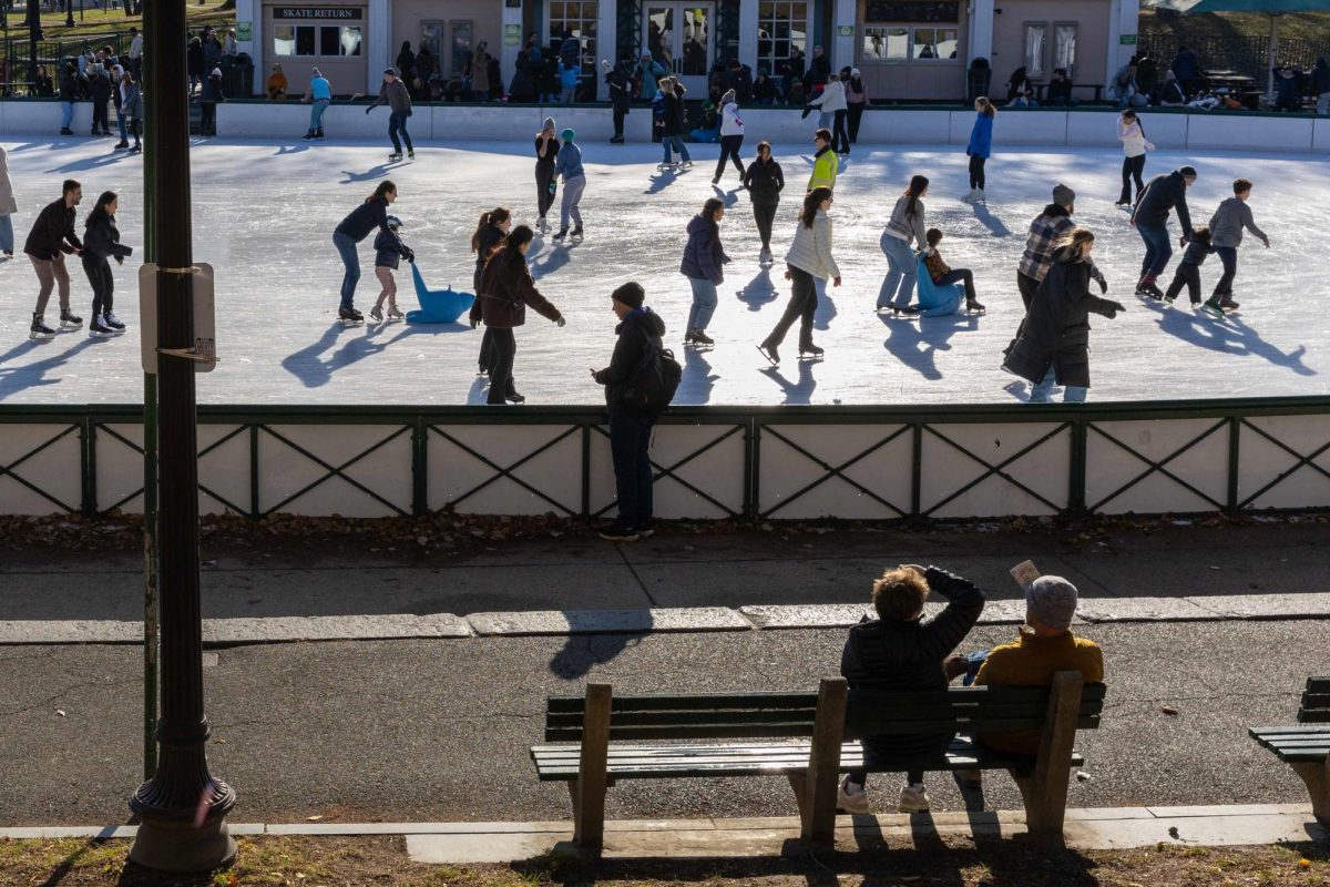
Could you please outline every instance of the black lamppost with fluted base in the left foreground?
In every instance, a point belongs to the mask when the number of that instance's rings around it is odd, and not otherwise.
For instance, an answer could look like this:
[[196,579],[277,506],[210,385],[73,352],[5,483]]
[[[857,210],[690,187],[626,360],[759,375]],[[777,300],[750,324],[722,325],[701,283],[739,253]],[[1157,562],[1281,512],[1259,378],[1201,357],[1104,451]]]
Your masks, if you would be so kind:
[[[29,0],[32,1],[32,0]],[[185,81],[185,1],[145,9],[148,118],[154,164],[149,199],[157,271],[158,541],[161,719],[157,771],[129,801],[140,819],[129,859],[162,871],[196,872],[235,856],[226,814],[235,793],[207,771],[203,714],[202,613],[198,596],[198,461],[194,363],[164,348],[194,347],[193,249],[189,198],[189,106]]]

